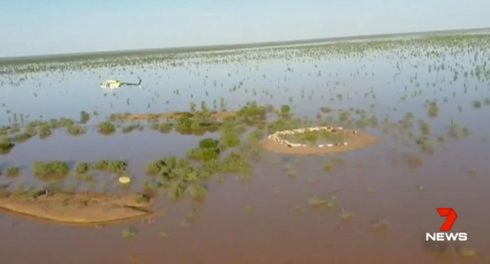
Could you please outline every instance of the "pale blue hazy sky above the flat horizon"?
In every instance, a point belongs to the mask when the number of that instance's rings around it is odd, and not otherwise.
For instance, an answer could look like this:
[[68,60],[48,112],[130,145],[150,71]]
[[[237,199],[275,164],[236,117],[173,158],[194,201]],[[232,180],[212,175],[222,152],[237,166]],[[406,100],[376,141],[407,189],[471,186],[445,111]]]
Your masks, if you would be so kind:
[[489,0],[0,0],[0,57],[490,27]]

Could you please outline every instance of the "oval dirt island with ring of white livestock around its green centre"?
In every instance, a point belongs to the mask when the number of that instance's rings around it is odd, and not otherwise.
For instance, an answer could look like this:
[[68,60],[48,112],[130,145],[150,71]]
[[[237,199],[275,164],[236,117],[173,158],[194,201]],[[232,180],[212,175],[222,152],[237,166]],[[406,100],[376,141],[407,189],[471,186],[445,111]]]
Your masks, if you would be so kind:
[[[290,142],[284,139],[287,135],[315,131],[332,131],[337,133],[342,136],[342,142],[322,143],[308,146],[304,143]],[[357,130],[343,129],[341,127],[312,127],[278,131],[272,135],[269,135],[267,139],[263,140],[262,147],[266,150],[277,153],[314,155],[320,153],[340,153],[353,151],[371,146],[378,141],[378,138]]]

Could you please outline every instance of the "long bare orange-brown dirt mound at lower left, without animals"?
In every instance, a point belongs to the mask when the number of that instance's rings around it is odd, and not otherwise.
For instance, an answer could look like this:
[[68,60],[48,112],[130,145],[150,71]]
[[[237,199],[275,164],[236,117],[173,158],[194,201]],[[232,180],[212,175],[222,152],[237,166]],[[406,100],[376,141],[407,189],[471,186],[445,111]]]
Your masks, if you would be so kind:
[[46,193],[35,195],[0,193],[0,209],[31,217],[71,224],[93,224],[143,217],[154,200],[143,194]]

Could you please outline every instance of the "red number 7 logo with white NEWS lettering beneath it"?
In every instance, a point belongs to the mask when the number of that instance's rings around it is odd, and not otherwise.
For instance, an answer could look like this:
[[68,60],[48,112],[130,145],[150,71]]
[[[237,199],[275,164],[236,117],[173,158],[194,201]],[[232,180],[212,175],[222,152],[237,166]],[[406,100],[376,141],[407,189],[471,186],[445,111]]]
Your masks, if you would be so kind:
[[451,233],[448,232],[451,230],[451,227],[456,221],[458,215],[454,211],[453,208],[437,208],[437,212],[441,217],[446,217],[443,226],[440,227],[440,231],[445,232],[434,232],[434,233],[425,233],[426,241],[467,241],[468,234],[467,233]]

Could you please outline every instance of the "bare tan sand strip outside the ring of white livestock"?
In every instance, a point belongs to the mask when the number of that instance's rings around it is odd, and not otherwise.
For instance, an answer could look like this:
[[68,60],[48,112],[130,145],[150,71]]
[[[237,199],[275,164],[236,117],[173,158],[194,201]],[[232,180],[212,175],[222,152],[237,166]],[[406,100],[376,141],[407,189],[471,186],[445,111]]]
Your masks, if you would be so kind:
[[[361,131],[342,129],[340,132],[344,135],[344,142],[335,144],[333,146],[327,146],[327,144],[316,146],[291,146],[286,143],[280,143],[274,138],[267,138],[261,141],[262,147],[268,151],[284,154],[299,154],[299,155],[315,155],[321,153],[340,153],[349,152],[353,150],[362,149],[371,146],[379,141],[379,138],[370,136]],[[301,144],[292,144],[301,145]]]

